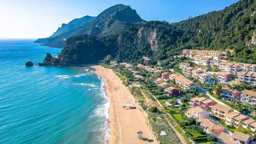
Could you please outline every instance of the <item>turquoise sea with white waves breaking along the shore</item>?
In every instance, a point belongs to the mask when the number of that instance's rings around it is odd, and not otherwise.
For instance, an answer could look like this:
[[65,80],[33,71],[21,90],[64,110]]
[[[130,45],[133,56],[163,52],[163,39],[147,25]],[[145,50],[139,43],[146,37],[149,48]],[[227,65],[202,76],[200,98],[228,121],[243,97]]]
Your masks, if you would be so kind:
[[89,67],[26,67],[61,48],[0,40],[0,143],[105,143],[109,99]]

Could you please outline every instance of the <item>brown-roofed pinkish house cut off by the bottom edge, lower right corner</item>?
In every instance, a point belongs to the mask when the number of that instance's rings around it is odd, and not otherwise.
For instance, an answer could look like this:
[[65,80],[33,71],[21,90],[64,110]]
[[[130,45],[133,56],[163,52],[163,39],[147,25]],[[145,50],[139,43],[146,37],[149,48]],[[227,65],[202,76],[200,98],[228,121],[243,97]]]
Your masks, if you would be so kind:
[[218,136],[219,143],[223,144],[252,144],[253,137],[238,131],[235,131],[233,135],[221,132]]

